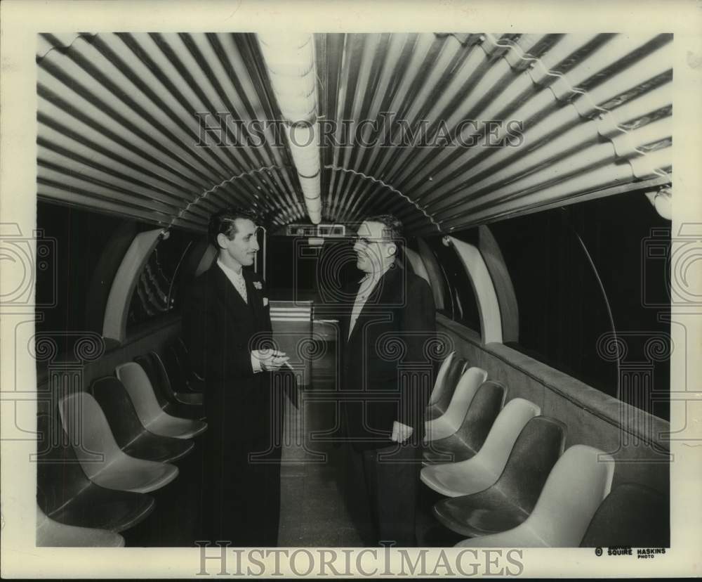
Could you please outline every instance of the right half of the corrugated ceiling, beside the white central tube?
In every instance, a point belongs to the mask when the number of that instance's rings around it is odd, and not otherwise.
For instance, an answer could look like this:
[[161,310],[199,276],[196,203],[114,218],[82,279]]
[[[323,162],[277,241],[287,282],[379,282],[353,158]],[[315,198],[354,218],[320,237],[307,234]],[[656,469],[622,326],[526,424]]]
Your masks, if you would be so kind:
[[[345,37],[345,44],[358,44],[356,36]],[[413,64],[405,67],[392,51],[385,51],[388,64],[378,70],[388,72],[384,75],[402,71],[400,99],[393,101],[390,110],[407,122],[407,129],[416,130],[428,122],[431,131],[443,123],[453,135],[465,119],[513,119],[524,127],[522,147],[376,147],[366,148],[357,157],[335,150],[326,157],[342,163],[326,164],[327,170],[353,170],[359,172],[355,175],[380,179],[415,204],[407,204],[397,193],[373,188],[368,181],[356,181],[355,190],[349,190],[340,179],[332,178],[329,205],[347,220],[392,211],[406,221],[409,231],[430,233],[434,230],[428,224],[430,218],[444,230],[446,221],[459,228],[461,215],[463,224],[472,224],[471,213],[483,207],[487,209],[480,216],[485,219],[491,205],[500,205],[496,212],[505,207],[516,212],[522,205],[526,209],[539,200],[534,188],[548,188],[548,193],[566,200],[590,188],[666,176],[670,169],[670,40],[670,35],[635,39],[616,34],[484,34],[469,35],[461,43],[455,36],[420,35],[411,44],[412,53],[404,56]],[[446,76],[449,70],[452,75]],[[369,87],[357,82],[359,78],[353,80],[360,93],[389,84],[382,75]],[[658,107],[652,111],[642,104],[639,110],[644,124],[653,119],[649,114],[663,115],[668,122],[651,124],[649,136],[637,134],[626,127],[628,119],[618,118],[616,97],[631,93],[651,105],[647,91],[656,83]],[[345,93],[340,92],[339,101],[347,101]],[[371,119],[379,119],[374,113],[371,110]],[[615,134],[603,131],[607,123]],[[484,129],[472,134],[483,136]],[[502,127],[496,137],[505,136]],[[665,153],[652,157],[647,141]],[[345,160],[350,166],[343,166]],[[372,161],[364,167],[364,160]],[[610,176],[611,183],[600,183],[602,176]],[[559,182],[572,190],[555,188]],[[417,205],[423,212],[418,212]]]

